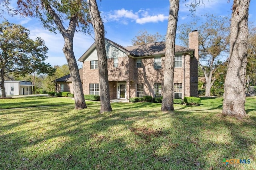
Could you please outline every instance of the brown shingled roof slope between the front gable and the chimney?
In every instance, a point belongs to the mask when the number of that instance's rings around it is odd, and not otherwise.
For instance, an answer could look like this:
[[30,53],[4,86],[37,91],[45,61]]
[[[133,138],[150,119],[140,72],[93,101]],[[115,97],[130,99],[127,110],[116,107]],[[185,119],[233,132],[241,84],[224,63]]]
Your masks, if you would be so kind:
[[[136,57],[150,56],[150,55],[164,55],[165,53],[165,42],[148,43],[143,45],[135,45],[125,48],[131,54]],[[194,49],[175,45],[175,52],[187,52],[194,51]]]

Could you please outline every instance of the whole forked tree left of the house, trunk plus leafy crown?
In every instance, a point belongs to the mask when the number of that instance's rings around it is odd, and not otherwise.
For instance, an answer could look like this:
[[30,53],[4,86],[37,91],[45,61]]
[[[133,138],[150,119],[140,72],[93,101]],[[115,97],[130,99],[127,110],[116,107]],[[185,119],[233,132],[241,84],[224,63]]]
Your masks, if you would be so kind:
[[[86,0],[18,0],[18,12],[38,18],[51,32],[58,30],[64,38],[63,52],[68,62],[74,88],[75,109],[86,108],[78,65],[73,51],[76,31],[88,31]],[[86,76],[86,75],[85,75]]]

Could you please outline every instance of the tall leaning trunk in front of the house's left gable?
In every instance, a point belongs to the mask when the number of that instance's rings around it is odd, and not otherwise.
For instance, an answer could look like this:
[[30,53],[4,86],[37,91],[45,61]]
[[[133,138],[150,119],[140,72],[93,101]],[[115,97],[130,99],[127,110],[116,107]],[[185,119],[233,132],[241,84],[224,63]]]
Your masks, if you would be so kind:
[[98,70],[100,81],[100,113],[105,111],[112,111],[110,105],[110,94],[108,84],[108,61],[106,57],[105,48],[105,31],[104,25],[100,18],[100,12],[96,4],[96,0],[88,0],[88,7],[92,25],[95,34],[95,44],[98,54]]

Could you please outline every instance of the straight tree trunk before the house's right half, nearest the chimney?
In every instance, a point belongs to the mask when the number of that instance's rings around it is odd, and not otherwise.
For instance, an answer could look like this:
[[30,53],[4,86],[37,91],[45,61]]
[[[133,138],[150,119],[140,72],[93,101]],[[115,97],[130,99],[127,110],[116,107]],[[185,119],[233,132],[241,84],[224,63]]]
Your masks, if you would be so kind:
[[164,63],[164,86],[161,111],[174,111],[173,79],[175,58],[175,37],[178,22],[179,0],[169,0],[169,20],[166,33],[166,51]]

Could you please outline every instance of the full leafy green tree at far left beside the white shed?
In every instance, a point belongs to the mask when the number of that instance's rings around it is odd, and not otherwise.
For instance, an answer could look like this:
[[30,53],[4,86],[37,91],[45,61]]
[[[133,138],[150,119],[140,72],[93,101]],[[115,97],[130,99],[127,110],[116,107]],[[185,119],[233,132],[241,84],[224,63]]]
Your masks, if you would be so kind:
[[30,31],[22,25],[4,21],[0,24],[0,88],[6,97],[4,77],[8,73],[25,75],[32,72],[52,74],[55,69],[44,63],[48,48],[44,40],[29,38]]

